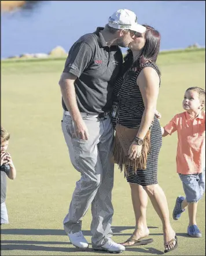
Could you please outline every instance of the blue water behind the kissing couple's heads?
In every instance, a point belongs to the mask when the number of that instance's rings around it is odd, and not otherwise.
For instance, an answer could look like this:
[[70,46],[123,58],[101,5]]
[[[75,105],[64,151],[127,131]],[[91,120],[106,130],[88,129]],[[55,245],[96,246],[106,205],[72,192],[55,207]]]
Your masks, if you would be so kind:
[[32,12],[2,14],[1,57],[49,53],[57,45],[68,52],[122,8],[160,31],[161,50],[205,46],[205,1],[43,1]]

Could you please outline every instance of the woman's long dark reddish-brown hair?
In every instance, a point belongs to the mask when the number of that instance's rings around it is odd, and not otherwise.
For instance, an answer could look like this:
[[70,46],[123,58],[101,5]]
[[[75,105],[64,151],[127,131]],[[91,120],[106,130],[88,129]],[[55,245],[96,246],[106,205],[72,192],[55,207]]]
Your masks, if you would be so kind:
[[155,66],[156,71],[161,75],[159,67],[156,65],[157,56],[160,51],[160,33],[155,30],[155,28],[150,27],[146,24],[142,25],[146,27],[145,31],[145,45],[139,53],[139,58],[137,62],[133,63],[133,52],[128,49],[127,55],[124,57],[124,68],[127,70],[133,66],[137,71],[141,68],[146,62],[150,62]]

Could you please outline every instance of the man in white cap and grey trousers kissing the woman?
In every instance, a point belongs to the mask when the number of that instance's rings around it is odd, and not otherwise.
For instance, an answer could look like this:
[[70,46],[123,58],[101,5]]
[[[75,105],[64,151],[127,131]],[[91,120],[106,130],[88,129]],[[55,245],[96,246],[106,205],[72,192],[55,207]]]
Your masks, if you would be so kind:
[[110,159],[113,127],[108,114],[113,84],[123,63],[119,46],[127,47],[136,32],[144,33],[145,27],[137,24],[135,13],[117,10],[105,28],[98,27],[73,44],[59,81],[64,109],[62,131],[71,163],[81,174],[63,223],[71,243],[78,248],[88,247],[81,219],[91,204],[94,250],[125,250],[111,239],[114,165]]

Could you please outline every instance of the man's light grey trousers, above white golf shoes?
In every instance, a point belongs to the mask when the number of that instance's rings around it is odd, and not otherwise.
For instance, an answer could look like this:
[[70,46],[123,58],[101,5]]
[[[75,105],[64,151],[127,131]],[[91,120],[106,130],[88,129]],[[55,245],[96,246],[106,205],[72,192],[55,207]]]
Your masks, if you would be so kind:
[[101,246],[112,236],[112,188],[114,164],[111,161],[113,127],[111,118],[105,120],[82,113],[89,139],[76,138],[70,116],[63,114],[62,131],[73,167],[80,172],[69,211],[64,218],[66,233],[79,232],[82,217],[91,204],[91,243]]

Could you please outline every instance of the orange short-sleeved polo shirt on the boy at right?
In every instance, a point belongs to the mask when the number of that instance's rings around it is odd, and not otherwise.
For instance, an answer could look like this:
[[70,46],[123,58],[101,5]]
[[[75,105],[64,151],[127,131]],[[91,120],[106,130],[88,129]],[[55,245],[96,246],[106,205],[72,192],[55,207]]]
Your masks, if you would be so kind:
[[205,111],[201,111],[196,118],[190,116],[187,111],[176,114],[164,129],[170,135],[178,132],[176,171],[179,174],[202,172],[205,157]]

